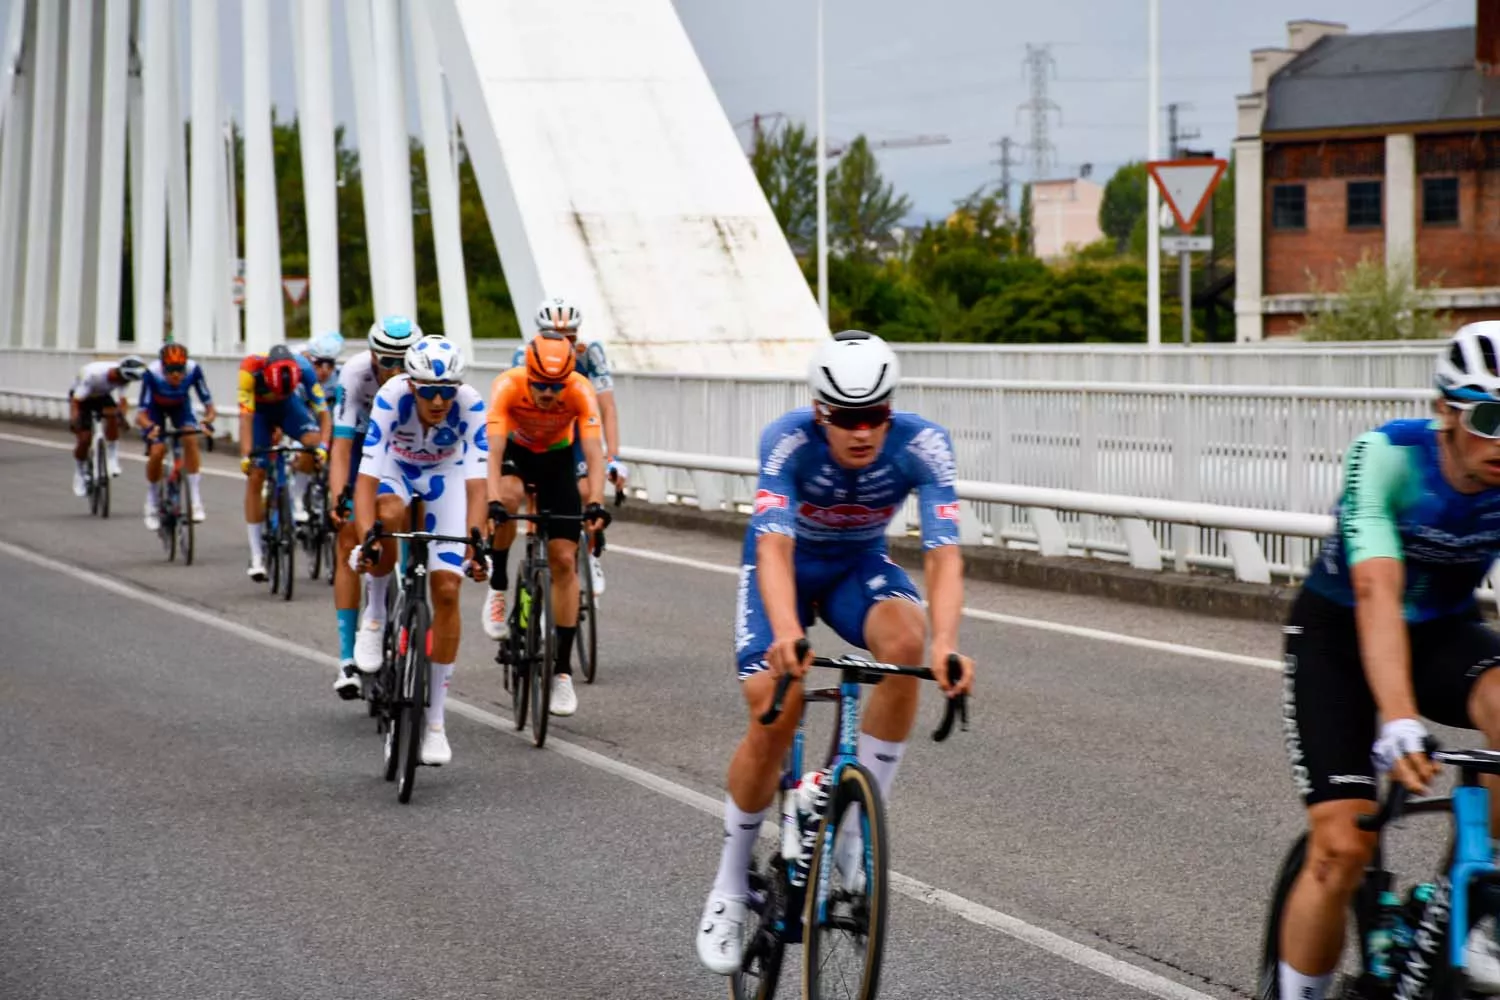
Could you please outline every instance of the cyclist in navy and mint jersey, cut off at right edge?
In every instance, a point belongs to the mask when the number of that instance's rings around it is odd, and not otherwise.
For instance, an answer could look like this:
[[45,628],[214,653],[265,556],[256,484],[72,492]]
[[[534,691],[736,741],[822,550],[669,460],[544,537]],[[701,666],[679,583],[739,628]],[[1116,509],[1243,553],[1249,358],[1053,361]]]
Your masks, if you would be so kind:
[[[1348,447],[1338,528],[1286,627],[1282,736],[1310,829],[1281,925],[1287,999],[1322,1000],[1334,978],[1376,846],[1356,820],[1374,811],[1377,774],[1418,793],[1437,774],[1420,717],[1500,747],[1500,636],[1474,604],[1500,556],[1500,322],[1458,330],[1436,382],[1434,420]],[[1473,960],[1500,972],[1476,934],[1470,975]]]

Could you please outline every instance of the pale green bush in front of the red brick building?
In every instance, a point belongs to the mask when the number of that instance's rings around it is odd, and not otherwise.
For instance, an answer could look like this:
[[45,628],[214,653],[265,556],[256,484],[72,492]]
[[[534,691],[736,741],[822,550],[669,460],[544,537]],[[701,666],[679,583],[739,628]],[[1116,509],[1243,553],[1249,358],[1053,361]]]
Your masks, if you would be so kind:
[[1323,298],[1299,333],[1308,340],[1416,340],[1440,337],[1450,318],[1431,304],[1436,283],[1418,288],[1407,261],[1386,262],[1365,252],[1338,276],[1340,291],[1323,292],[1308,274],[1310,291]]

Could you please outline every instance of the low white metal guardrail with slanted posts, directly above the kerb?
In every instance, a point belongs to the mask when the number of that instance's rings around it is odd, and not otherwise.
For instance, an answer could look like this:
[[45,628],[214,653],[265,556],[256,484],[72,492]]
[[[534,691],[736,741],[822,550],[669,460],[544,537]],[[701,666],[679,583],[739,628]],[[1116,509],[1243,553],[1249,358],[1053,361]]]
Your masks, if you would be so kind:
[[[636,466],[636,480],[644,499],[652,504],[680,502],[687,496],[700,510],[748,508],[758,465],[752,459],[732,459],[714,454],[687,454],[658,451],[652,448],[622,448],[621,457]],[[690,490],[674,489],[668,471],[686,472]],[[748,480],[748,483],[746,483]],[[1191,544],[1191,532],[1182,528],[1214,532],[1228,552],[1228,567],[1234,579],[1246,583],[1270,583],[1272,573],[1294,576],[1292,567],[1275,567],[1266,556],[1263,537],[1322,540],[1334,531],[1334,517],[1328,514],[1299,514],[1286,511],[1256,510],[1245,507],[1221,507],[1214,504],[1190,504],[1143,496],[1113,496],[1080,490],[1059,490],[1002,483],[957,483],[960,498],[960,537],[964,544],[1006,544],[1029,541],[1044,556],[1100,555],[1110,546],[1083,544],[1071,537],[1064,516],[1108,517],[1124,537],[1124,553],[1138,570],[1161,570],[1166,558],[1179,568],[1186,565],[1209,565],[1221,568],[1224,559],[1190,553],[1184,544]],[[1029,516],[1030,537],[1006,538],[1006,532],[994,531],[993,508],[1020,508]],[[992,508],[992,510],[986,510]],[[912,522],[912,504],[891,522],[890,534],[906,535]],[[1082,523],[1082,519],[1078,520]],[[1168,532],[1176,549],[1166,547],[1158,538],[1161,526],[1179,531]],[[988,528],[988,531],[987,531]],[[1299,567],[1300,568],[1300,567]]]

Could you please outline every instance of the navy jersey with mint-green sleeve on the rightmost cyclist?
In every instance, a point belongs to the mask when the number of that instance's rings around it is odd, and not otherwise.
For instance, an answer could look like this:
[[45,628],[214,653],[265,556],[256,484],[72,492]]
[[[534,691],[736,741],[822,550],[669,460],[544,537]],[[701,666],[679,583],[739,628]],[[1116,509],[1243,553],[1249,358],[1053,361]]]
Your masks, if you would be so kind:
[[1500,490],[1455,490],[1428,420],[1392,420],[1354,439],[1335,514],[1306,588],[1346,607],[1350,567],[1388,558],[1404,564],[1408,622],[1466,612],[1500,556]]

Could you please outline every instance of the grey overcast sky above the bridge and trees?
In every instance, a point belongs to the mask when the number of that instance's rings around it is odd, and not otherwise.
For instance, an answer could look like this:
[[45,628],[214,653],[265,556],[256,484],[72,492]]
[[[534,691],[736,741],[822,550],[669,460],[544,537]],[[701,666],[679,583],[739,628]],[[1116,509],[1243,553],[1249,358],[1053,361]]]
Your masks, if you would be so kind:
[[[44,0],[57,3],[62,0]],[[188,3],[207,0],[178,0]],[[290,0],[272,4],[272,99],[291,112]],[[543,3],[546,0],[537,0]],[[628,3],[630,0],[618,0]],[[1250,49],[1286,45],[1294,18],[1342,21],[1352,31],[1473,24],[1479,0],[1161,0],[1161,100],[1191,105],[1182,121],[1194,148],[1228,151],[1234,94],[1250,88]],[[0,25],[14,0],[0,0]],[[219,0],[224,94],[238,106],[242,0]],[[813,0],[674,0],[730,121],[754,112],[814,117]],[[1050,175],[1094,165],[1106,180],[1146,154],[1144,0],[825,0],[828,132],[848,141],[946,135],[946,145],[888,150],[880,162],[918,216],[946,214],[956,198],[999,178],[994,141],[1017,145],[1030,120],[1026,46],[1048,45],[1056,147]],[[344,3],[333,0],[334,114],[352,121]],[[186,45],[184,64],[186,64]],[[416,94],[408,93],[416,103]],[[184,112],[190,105],[183,102]],[[1164,121],[1166,118],[1162,118]],[[412,115],[412,123],[416,117]],[[351,129],[352,132],[352,129]],[[741,129],[741,135],[747,135]],[[1166,124],[1162,124],[1166,150]],[[1030,177],[1017,148],[1017,180]]]

